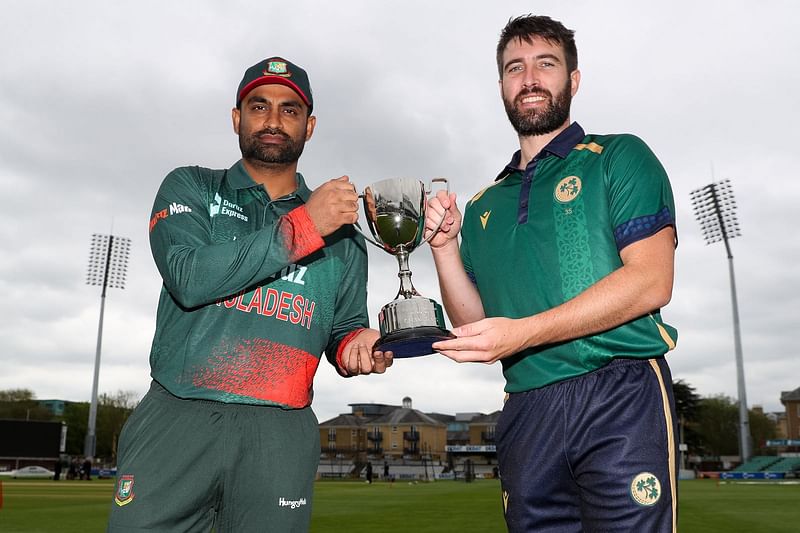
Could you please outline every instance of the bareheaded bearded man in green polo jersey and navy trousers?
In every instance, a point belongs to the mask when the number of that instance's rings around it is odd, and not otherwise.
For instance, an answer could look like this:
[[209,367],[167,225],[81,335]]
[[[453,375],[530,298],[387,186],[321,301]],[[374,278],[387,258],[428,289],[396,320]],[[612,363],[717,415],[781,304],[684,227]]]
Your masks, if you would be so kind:
[[570,121],[581,75],[560,22],[510,20],[497,67],[519,150],[463,220],[454,194],[430,200],[428,232],[447,212],[430,245],[457,326],[434,349],[502,363],[510,531],[674,531],[669,179],[637,137]]

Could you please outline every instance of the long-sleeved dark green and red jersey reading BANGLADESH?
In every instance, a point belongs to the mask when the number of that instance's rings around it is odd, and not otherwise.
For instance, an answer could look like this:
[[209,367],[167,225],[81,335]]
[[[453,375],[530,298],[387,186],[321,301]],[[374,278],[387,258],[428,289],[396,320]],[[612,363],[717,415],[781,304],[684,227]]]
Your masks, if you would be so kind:
[[349,225],[323,239],[310,194],[297,174],[297,190],[273,200],[241,161],[164,179],[150,220],[164,280],[150,366],[169,392],[305,407],[323,351],[336,365],[341,341],[368,326],[364,239]]

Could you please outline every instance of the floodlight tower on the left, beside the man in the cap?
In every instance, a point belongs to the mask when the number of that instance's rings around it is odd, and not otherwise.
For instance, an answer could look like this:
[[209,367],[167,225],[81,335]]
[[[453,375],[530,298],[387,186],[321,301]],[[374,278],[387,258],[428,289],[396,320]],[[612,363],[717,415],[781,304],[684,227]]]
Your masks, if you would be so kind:
[[100,379],[100,351],[103,345],[103,312],[106,307],[106,289],[108,287],[125,288],[130,247],[131,240],[125,237],[99,233],[92,235],[89,268],[86,271],[86,284],[99,285],[103,290],[100,293],[100,322],[97,326],[97,351],[94,356],[92,403],[89,407],[89,425],[83,447],[83,455],[88,459],[94,459],[97,444],[97,384]]

